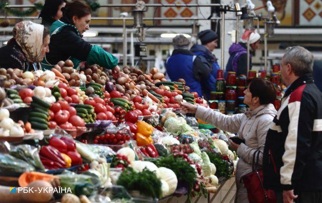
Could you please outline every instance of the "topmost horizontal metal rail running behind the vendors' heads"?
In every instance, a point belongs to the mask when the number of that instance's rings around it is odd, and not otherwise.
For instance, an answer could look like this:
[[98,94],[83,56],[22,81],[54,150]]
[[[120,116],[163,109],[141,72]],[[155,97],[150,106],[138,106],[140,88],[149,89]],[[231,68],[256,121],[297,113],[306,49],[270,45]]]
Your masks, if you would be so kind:
[[[102,4],[100,7],[135,7],[135,3],[126,3],[126,4]],[[149,3],[145,4],[146,7],[219,7],[222,6],[220,3],[210,3],[210,4],[198,4],[198,3],[191,3],[191,4],[176,4],[176,3]],[[32,8],[35,5],[6,5],[5,7],[9,8]]]

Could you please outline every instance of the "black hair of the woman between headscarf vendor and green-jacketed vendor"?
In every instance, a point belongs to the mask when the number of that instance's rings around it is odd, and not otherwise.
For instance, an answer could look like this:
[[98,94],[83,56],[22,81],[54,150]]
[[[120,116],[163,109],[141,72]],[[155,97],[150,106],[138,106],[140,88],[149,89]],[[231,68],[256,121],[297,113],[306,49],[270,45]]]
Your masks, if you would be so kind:
[[39,17],[46,20],[49,23],[53,23],[54,16],[56,15],[59,6],[63,3],[67,2],[66,0],[45,0],[45,4],[43,9],[40,11]]

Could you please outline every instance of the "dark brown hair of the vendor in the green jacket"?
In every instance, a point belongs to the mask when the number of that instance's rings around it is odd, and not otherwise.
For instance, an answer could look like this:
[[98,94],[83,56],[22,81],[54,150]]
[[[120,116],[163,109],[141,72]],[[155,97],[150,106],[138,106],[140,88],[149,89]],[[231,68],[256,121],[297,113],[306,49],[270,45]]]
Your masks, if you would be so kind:
[[73,16],[82,18],[89,14],[91,14],[91,7],[84,0],[67,2],[65,7],[62,8],[62,15],[68,17],[70,20],[73,19]]

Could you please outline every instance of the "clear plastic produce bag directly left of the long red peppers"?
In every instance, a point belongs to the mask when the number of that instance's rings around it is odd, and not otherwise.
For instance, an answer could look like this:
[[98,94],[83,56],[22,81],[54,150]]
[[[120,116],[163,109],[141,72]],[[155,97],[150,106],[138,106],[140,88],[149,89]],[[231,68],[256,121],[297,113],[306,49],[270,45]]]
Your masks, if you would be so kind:
[[35,168],[44,170],[45,167],[40,160],[38,149],[30,145],[18,145],[13,147],[10,155],[30,163]]

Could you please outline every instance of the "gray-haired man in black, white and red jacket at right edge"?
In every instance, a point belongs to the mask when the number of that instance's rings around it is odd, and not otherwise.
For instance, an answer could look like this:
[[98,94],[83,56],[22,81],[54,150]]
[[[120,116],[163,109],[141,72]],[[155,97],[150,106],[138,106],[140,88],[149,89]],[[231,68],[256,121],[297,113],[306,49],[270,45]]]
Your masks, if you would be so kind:
[[288,48],[281,77],[288,87],[266,138],[264,186],[278,203],[322,203],[322,93],[312,77],[313,54]]

